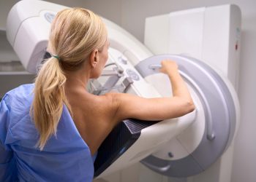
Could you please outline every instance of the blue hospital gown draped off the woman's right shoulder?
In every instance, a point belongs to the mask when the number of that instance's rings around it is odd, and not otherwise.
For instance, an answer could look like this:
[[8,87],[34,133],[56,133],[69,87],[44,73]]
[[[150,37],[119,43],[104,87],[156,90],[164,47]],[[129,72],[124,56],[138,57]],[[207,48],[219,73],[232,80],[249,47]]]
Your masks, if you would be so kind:
[[67,107],[42,151],[29,109],[34,84],[4,95],[0,103],[0,181],[92,181],[94,159]]

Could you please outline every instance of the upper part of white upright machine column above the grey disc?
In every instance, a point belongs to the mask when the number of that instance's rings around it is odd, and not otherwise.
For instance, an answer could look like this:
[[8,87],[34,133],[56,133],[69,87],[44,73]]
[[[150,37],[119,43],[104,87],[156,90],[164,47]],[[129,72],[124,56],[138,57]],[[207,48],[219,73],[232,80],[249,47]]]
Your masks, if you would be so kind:
[[155,55],[181,54],[208,63],[238,87],[241,10],[235,4],[147,17],[144,44]]

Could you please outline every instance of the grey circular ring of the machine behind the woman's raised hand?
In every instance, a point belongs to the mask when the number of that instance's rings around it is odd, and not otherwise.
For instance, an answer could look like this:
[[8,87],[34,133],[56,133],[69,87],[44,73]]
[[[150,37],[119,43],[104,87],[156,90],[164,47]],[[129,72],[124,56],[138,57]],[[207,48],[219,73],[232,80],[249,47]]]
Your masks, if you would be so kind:
[[[176,157],[175,154],[173,156],[172,149],[164,147],[160,153],[166,153],[169,159],[152,154],[141,162],[157,173],[185,178],[206,170],[221,157],[230,145],[238,125],[238,98],[232,85],[224,76],[221,76],[206,63],[194,58],[181,55],[158,55],[140,61],[135,68],[144,78],[151,76],[150,80],[152,81],[154,79],[152,75],[158,73],[157,65],[160,65],[161,60],[165,59],[174,60],[178,63],[181,76],[196,94],[197,101],[200,102],[198,106],[203,108],[197,110],[197,116],[203,116],[202,137],[193,151],[189,151],[189,154],[183,157]],[[148,82],[151,82],[150,80]],[[158,88],[156,87],[156,89]],[[159,92],[161,91],[159,90]],[[187,135],[186,132],[190,129],[187,128],[186,130],[181,135]],[[196,135],[191,131],[189,133],[191,138]],[[173,139],[178,142],[176,142],[177,146],[172,145],[172,147],[183,147],[184,151],[188,151],[186,149],[187,143],[180,138],[177,136]],[[173,142],[170,141],[170,143]]]

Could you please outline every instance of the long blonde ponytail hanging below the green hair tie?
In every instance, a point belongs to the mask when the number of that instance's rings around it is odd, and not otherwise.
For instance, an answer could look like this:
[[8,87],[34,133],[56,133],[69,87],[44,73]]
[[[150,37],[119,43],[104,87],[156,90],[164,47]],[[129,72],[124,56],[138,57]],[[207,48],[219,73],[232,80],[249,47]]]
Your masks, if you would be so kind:
[[34,86],[31,114],[39,132],[37,146],[42,150],[51,135],[56,135],[63,104],[70,107],[64,91],[66,76],[58,58],[51,57],[40,68]]

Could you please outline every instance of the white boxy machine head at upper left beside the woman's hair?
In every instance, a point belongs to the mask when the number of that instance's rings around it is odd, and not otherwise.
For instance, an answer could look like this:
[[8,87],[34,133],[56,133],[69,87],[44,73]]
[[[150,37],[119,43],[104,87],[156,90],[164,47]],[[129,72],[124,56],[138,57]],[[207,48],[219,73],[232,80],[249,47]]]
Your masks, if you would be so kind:
[[7,17],[7,39],[27,71],[36,73],[42,61],[56,12],[67,7],[45,1],[19,1]]

